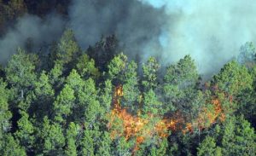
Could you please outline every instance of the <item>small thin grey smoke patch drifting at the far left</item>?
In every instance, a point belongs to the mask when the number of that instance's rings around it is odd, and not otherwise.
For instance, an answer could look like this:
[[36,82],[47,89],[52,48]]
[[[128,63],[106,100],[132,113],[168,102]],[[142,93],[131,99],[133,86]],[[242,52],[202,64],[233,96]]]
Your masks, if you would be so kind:
[[6,63],[18,47],[24,49],[28,43],[32,50],[37,51],[44,44],[60,38],[64,26],[65,20],[57,14],[49,14],[44,20],[25,14],[18,19],[14,28],[9,29],[4,37],[0,38],[0,62]]

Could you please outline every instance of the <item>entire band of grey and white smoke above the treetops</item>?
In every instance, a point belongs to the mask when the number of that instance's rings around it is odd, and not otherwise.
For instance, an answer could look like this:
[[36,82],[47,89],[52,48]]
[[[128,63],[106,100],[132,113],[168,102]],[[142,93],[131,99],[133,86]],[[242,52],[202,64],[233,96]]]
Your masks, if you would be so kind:
[[[115,34],[130,57],[145,61],[154,55],[168,65],[191,55],[204,75],[218,72],[256,35],[254,0],[73,0],[68,12],[67,26],[83,49]],[[24,38],[39,45],[59,37],[66,21],[57,15],[47,19],[21,18],[0,39],[0,61],[23,47]]]

